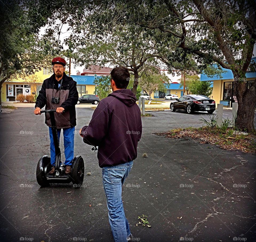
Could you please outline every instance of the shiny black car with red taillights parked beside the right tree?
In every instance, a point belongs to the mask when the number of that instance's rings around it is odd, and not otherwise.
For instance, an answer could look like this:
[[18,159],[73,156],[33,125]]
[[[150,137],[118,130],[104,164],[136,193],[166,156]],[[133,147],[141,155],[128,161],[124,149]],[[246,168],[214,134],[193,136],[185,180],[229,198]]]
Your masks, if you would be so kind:
[[204,95],[184,95],[170,104],[170,110],[186,110],[188,114],[194,111],[207,111],[212,114],[215,101]]

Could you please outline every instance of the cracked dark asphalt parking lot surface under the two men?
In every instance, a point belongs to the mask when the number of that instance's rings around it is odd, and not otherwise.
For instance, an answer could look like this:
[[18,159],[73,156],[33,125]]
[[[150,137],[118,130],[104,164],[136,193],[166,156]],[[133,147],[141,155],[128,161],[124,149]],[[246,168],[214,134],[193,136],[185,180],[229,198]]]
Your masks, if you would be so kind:
[[[44,116],[33,110],[0,114],[0,241],[113,241],[97,155],[78,135],[94,110],[77,109],[75,155],[84,158],[85,174],[90,173],[79,189],[38,186],[36,165],[50,147]],[[136,241],[255,241],[255,155],[153,134],[200,127],[205,112],[151,113],[155,116],[142,117],[138,157],[123,186]],[[224,116],[231,118],[231,110]],[[60,142],[64,157],[62,135]],[[142,214],[150,228],[136,226]]]

